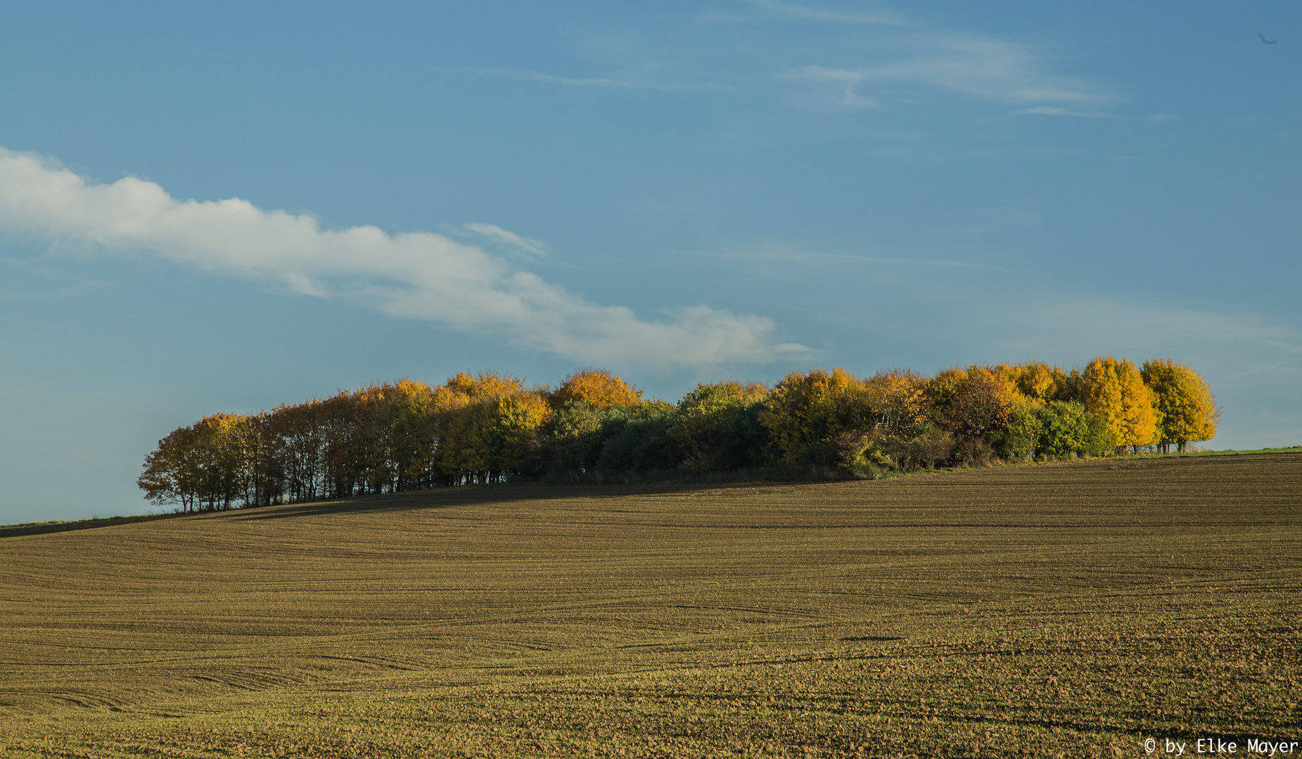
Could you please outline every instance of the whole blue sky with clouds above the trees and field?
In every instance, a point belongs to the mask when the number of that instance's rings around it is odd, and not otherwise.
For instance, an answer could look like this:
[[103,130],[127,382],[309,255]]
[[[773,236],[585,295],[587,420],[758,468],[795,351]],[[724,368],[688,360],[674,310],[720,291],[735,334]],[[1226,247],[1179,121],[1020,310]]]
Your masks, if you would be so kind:
[[[1276,40],[1273,44],[1263,42]],[[1302,443],[1302,9],[0,9],[0,522],[363,383],[1170,355]]]

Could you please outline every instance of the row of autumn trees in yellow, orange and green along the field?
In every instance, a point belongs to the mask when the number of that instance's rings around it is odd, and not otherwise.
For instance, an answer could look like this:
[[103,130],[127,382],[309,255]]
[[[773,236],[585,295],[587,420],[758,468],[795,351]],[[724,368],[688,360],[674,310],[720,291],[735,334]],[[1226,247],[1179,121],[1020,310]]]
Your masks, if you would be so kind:
[[137,483],[158,504],[221,510],[506,479],[674,471],[878,476],[1003,460],[1185,450],[1216,432],[1211,391],[1169,358],[1111,355],[854,376],[792,372],[773,387],[702,383],[643,400],[605,370],[559,387],[461,372],[404,379],[174,430]]

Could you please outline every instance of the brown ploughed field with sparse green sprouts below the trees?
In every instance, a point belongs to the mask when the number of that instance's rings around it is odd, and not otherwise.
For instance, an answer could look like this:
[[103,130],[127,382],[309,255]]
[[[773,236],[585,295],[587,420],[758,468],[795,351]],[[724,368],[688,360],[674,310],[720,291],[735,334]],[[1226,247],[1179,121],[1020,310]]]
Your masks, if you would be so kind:
[[0,755],[1242,755],[1302,739],[1299,493],[1293,452],[3,538]]

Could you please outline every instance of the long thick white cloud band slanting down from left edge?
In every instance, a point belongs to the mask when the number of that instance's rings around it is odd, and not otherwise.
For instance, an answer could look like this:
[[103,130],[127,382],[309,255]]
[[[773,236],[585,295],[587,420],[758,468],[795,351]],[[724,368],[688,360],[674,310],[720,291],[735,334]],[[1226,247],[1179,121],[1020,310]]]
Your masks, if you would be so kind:
[[[490,224],[469,229],[533,253],[534,240]],[[275,281],[296,293],[349,297],[400,318],[471,332],[585,363],[710,367],[803,358],[775,344],[771,319],[707,306],[646,322],[599,306],[482,249],[424,232],[322,229],[318,220],[247,200],[177,200],[134,177],[87,182],[31,154],[0,148],[0,228],[160,256],[225,275]]]

